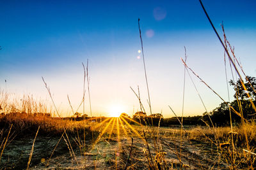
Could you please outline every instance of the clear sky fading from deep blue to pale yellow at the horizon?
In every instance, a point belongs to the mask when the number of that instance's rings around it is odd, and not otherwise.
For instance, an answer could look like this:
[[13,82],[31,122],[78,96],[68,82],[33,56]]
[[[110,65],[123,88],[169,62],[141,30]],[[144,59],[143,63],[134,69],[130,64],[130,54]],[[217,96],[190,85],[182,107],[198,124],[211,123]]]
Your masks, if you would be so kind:
[[[256,1],[203,3],[221,35],[223,21],[246,74],[256,76]],[[138,52],[139,17],[153,113],[173,117],[170,105],[181,115],[184,46],[188,66],[228,99],[223,48],[197,0],[1,1],[0,16],[1,90],[7,85],[7,91],[17,96],[33,94],[46,99],[44,76],[63,116],[70,115],[67,94],[74,108],[81,101],[81,62],[87,59],[93,115],[108,116],[113,108],[132,115],[139,103],[130,87],[137,89],[138,85],[148,112],[143,60]],[[220,99],[195,76],[193,80],[207,109],[216,108]],[[205,111],[188,74],[184,106],[185,116]]]

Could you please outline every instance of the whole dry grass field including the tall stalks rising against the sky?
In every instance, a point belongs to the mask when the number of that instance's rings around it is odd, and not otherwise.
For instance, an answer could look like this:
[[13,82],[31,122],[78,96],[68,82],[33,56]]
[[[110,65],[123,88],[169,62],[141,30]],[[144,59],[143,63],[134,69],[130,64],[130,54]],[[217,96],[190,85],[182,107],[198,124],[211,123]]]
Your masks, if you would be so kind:
[[[200,3],[202,4],[201,1]],[[203,5],[202,8],[204,9]],[[248,94],[248,90],[243,82],[242,76],[246,78],[246,74],[243,71],[243,67],[239,65],[234,55],[234,50],[225,37],[224,29],[223,43],[206,11],[205,14],[218,39],[220,39],[221,45],[223,45],[225,55],[228,55],[230,69],[234,69],[234,72],[236,71],[235,74],[240,78],[241,86],[248,95],[248,101],[250,101],[253,109],[256,111],[255,101]],[[147,101],[150,114],[152,114],[140,19],[138,24],[145,80],[147,83]],[[230,53],[233,55],[232,57]],[[48,105],[44,101],[36,101],[33,96],[23,96],[20,99],[20,97],[13,94],[8,94],[6,90],[0,91],[1,169],[255,168],[255,120],[244,120],[241,103],[239,110],[234,110],[193,69],[188,67],[186,58],[185,48],[185,59],[182,59],[184,64],[184,82],[185,74],[193,73],[207,88],[220,97],[230,110],[229,127],[216,127],[210,116],[211,124],[205,122],[203,127],[184,127],[182,122],[183,111],[182,118],[179,120],[180,125],[177,127],[152,126],[150,121],[147,125],[142,125],[129,117],[123,116],[106,118],[100,122],[93,121],[96,118],[84,118],[84,120],[79,121],[74,117],[70,119],[61,118],[52,99],[49,86],[47,86],[43,78],[53,105],[50,108],[47,107]],[[234,77],[234,75],[232,76]],[[79,107],[83,106],[83,113],[86,78],[90,101],[88,63],[87,67],[84,67],[83,99],[81,104],[79,104]],[[132,91],[138,98],[141,111],[145,112],[140,99],[140,89],[138,89],[138,93],[133,89]],[[197,89],[196,91],[198,92]],[[255,89],[253,91],[256,92]],[[200,97],[199,93],[198,96]],[[202,101],[201,97],[200,99]],[[238,97],[237,102],[239,103]],[[202,104],[204,104],[204,101],[202,101]],[[71,104],[70,107],[72,108]],[[184,105],[182,110],[183,107]],[[170,109],[172,110],[172,108]],[[90,111],[92,113],[92,108],[90,108]],[[231,111],[232,114],[236,114],[241,118],[240,124],[233,126],[234,122],[232,122]],[[73,108],[72,112],[74,115]],[[206,110],[205,113],[208,114],[208,111]],[[55,117],[52,117],[53,115]],[[174,115],[176,116],[175,113]]]

